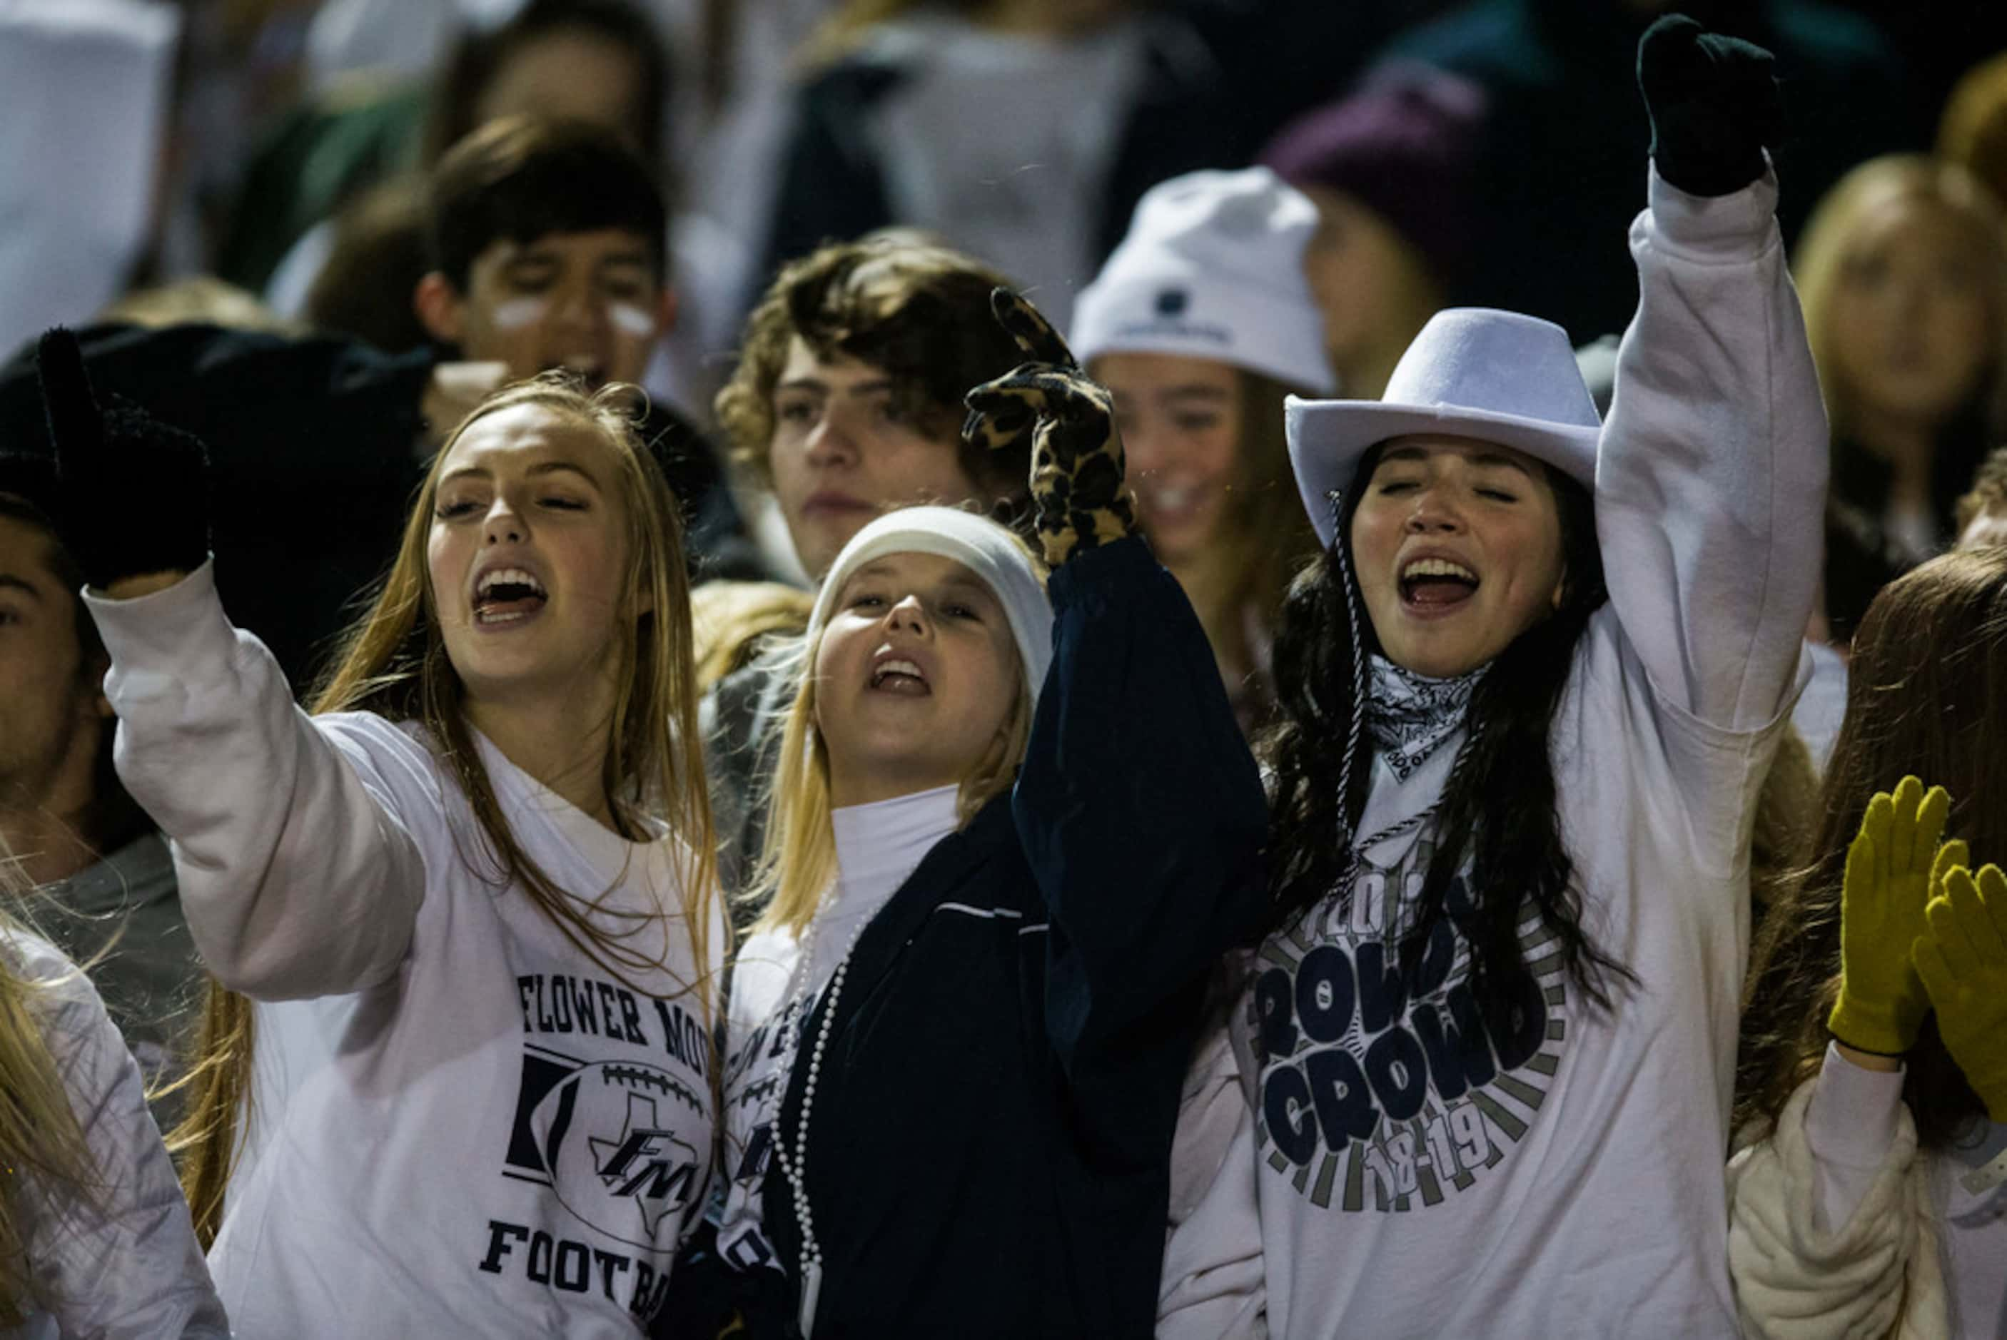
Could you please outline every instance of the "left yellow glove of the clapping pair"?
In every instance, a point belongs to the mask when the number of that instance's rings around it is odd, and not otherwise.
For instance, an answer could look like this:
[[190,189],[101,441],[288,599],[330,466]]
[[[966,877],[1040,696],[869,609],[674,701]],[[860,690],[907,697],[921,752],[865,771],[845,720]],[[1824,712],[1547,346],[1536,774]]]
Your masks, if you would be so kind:
[[1826,1027],[1848,1047],[1901,1055],[1931,1009],[1909,957],[1923,933],[1933,865],[1961,865],[1963,843],[1937,849],[1951,796],[1905,776],[1895,794],[1875,792],[1846,849],[1840,887],[1840,999]]

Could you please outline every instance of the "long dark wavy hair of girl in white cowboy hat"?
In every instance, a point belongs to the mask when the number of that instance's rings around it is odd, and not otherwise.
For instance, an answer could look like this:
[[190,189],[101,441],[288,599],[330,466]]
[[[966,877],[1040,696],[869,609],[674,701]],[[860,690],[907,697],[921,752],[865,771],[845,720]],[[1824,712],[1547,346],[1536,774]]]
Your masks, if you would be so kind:
[[[1262,738],[1270,774],[1270,931],[1288,927],[1333,891],[1347,903],[1353,897],[1339,885],[1351,859],[1347,834],[1357,834],[1365,814],[1373,754],[1345,744],[1355,708],[1365,706],[1355,704],[1355,656],[1377,652],[1379,640],[1361,614],[1365,602],[1349,546],[1353,514],[1379,457],[1381,447],[1373,447],[1359,463],[1331,548],[1297,576],[1282,608],[1274,644],[1278,720]],[[1559,512],[1561,602],[1499,652],[1471,694],[1471,730],[1435,814],[1435,859],[1417,905],[1401,919],[1399,963],[1407,981],[1421,969],[1437,925],[1455,919],[1471,947],[1471,995],[1491,1019],[1509,1017],[1529,993],[1537,997],[1519,937],[1529,907],[1553,935],[1553,953],[1567,975],[1600,1007],[1610,1005],[1612,975],[1630,979],[1582,929],[1575,863],[1561,841],[1547,750],[1575,644],[1610,598],[1596,544],[1596,504],[1561,471],[1541,469]],[[1451,911],[1449,887],[1467,859],[1475,871],[1469,907]]]

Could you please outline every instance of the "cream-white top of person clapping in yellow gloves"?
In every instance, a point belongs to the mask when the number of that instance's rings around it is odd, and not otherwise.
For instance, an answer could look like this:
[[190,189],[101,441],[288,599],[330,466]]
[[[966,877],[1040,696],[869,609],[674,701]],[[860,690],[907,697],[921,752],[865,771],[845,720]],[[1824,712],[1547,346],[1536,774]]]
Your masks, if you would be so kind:
[[[1834,1047],[1728,1165],[1728,1268],[1768,1340],[1981,1340],[2007,1328],[2007,1125],[1917,1153],[1901,1071]],[[1995,1174],[1985,1169],[1993,1165]]]

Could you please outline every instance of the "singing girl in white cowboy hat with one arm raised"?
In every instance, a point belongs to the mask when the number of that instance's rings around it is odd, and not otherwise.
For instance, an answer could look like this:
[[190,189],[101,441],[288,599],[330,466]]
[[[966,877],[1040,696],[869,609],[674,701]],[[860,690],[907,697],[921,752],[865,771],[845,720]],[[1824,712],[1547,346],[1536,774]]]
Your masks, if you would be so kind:
[[1268,935],[1188,1085],[1164,1336],[1736,1334],[1748,836],[1824,493],[1768,64],[1684,18],[1640,46],[1608,425],[1561,329],[1495,311],[1435,317],[1385,403],[1291,405],[1329,554],[1276,642]]

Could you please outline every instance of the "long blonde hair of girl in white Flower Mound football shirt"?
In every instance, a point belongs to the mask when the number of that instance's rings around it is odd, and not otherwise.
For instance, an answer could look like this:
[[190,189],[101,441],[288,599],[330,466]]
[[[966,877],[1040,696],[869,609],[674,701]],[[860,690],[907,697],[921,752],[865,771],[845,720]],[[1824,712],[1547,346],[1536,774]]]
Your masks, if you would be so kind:
[[[313,696],[313,712],[375,712],[421,722],[486,839],[488,851],[480,859],[464,853],[468,865],[496,889],[520,887],[580,953],[646,995],[636,977],[668,971],[668,925],[650,913],[610,913],[610,889],[592,899],[574,897],[552,883],[516,841],[466,722],[466,686],[440,636],[425,562],[440,471],[470,425],[500,409],[538,405],[604,433],[620,469],[610,491],[626,499],[628,580],[616,622],[616,698],[600,780],[622,836],[648,841],[660,818],[680,839],[680,911],[696,963],[684,989],[710,1017],[712,983],[704,965],[710,963],[716,913],[716,839],[696,732],[688,570],[680,514],[634,429],[626,409],[630,395],[630,387],[586,395],[574,379],[546,373],[490,395],[462,419],[425,471],[397,558],[369,612],[345,636],[335,668]],[[608,915],[626,925],[608,931],[596,923]],[[650,927],[662,931],[660,951],[630,943]],[[183,1186],[205,1244],[221,1226],[223,1194],[237,1159],[237,1113],[247,1107],[251,1091],[251,1043],[249,1003],[211,983],[197,1045],[203,1061],[191,1077],[197,1091],[193,1109],[171,1141],[177,1151],[189,1151]]]

